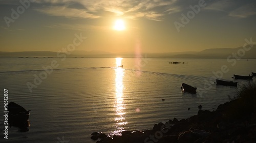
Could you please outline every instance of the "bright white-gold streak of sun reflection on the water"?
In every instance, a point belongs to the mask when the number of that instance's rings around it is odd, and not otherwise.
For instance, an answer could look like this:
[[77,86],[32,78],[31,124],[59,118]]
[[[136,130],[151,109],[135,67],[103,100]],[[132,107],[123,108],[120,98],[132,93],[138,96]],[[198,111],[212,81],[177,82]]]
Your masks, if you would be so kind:
[[123,68],[118,67],[122,63],[122,58],[116,58],[116,97],[115,97],[115,107],[116,107],[116,130],[114,131],[114,134],[120,135],[122,131],[125,131],[124,126],[127,124],[125,122],[125,104],[123,103]]

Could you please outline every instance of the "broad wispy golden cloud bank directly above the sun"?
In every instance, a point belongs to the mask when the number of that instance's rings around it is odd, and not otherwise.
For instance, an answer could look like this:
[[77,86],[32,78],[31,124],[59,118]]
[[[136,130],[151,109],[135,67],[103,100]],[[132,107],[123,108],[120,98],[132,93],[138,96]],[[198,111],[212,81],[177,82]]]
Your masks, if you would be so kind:
[[[65,16],[69,18],[100,18],[103,16],[123,16],[126,18],[144,17],[150,20],[161,21],[163,16],[178,12],[173,8],[176,0],[139,0],[139,1],[105,1],[105,0],[38,0],[35,3],[45,5],[36,8],[36,11],[52,16]],[[71,7],[81,5],[83,9]]]

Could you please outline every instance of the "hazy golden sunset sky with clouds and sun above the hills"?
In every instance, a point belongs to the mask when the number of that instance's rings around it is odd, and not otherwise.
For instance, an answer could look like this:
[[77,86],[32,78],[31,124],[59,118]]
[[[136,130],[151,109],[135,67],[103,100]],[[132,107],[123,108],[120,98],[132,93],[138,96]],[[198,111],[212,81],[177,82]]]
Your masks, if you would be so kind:
[[0,51],[183,52],[256,41],[255,0],[0,0],[0,17]]

